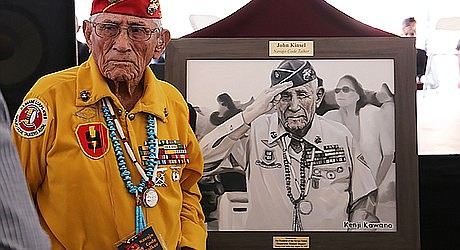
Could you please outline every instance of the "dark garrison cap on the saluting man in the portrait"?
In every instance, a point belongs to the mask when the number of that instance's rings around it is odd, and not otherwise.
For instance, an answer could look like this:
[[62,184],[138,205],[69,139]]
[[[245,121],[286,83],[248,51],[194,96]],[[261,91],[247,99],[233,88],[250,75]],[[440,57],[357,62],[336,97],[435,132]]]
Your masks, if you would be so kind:
[[293,87],[317,79],[313,66],[308,61],[284,60],[272,71],[271,86],[292,81]]

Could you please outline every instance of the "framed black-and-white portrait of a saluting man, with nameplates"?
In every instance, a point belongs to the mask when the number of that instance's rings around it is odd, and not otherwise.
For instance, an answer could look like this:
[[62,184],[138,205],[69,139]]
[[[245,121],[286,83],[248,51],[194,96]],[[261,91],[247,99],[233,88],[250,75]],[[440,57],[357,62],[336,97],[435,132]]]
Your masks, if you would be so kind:
[[418,249],[415,40],[182,38],[209,249]]

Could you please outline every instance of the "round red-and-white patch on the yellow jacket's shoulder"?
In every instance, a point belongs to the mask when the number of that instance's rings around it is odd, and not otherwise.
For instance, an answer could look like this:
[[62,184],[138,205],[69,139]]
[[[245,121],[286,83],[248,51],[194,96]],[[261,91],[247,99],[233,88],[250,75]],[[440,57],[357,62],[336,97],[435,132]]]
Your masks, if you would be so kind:
[[27,99],[14,116],[14,129],[25,138],[37,137],[45,132],[48,110],[38,99]]

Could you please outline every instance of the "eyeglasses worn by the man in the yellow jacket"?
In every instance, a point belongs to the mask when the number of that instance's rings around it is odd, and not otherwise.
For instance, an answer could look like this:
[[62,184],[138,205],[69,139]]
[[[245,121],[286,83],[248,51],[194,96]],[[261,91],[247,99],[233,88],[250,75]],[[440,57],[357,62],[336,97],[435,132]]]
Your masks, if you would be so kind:
[[147,41],[152,37],[152,34],[159,34],[161,32],[161,27],[155,29],[149,29],[142,26],[128,26],[128,28],[122,28],[118,24],[114,23],[96,23],[91,22],[93,25],[96,35],[101,38],[113,38],[117,37],[121,30],[126,30],[128,32],[128,37],[134,41]]

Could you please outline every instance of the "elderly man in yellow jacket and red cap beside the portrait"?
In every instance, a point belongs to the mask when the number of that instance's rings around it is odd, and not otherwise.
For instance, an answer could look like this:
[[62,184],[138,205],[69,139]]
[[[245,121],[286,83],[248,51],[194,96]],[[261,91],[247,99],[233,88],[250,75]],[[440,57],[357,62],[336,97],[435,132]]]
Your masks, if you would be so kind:
[[170,40],[154,0],[94,0],[88,61],[41,78],[13,133],[53,249],[205,249],[188,108],[148,65]]

